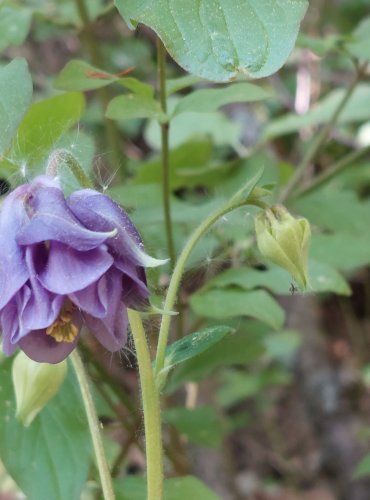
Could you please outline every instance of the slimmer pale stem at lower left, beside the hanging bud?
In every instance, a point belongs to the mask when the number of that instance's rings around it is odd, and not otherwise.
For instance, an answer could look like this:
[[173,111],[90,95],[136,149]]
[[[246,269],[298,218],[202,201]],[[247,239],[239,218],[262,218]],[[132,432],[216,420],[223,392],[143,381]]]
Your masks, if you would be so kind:
[[91,439],[94,446],[96,464],[99,470],[101,486],[104,500],[114,500],[115,494],[112,486],[112,479],[109,472],[108,462],[105,456],[103,441],[100,434],[100,423],[96,414],[92,399],[89,382],[82,360],[75,349],[71,354],[71,361],[75,369],[77,380],[80,386],[82,400],[84,402],[87,421],[89,424]]

